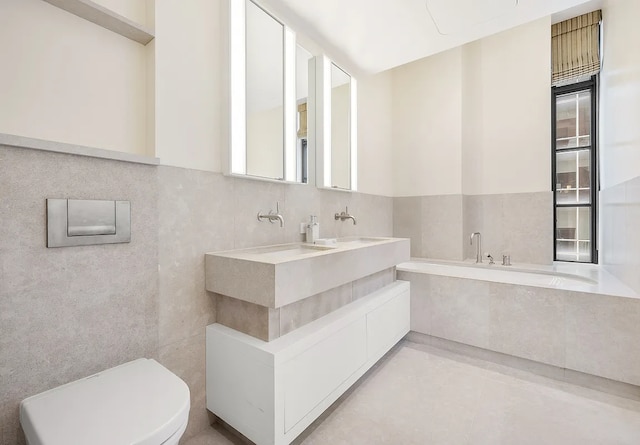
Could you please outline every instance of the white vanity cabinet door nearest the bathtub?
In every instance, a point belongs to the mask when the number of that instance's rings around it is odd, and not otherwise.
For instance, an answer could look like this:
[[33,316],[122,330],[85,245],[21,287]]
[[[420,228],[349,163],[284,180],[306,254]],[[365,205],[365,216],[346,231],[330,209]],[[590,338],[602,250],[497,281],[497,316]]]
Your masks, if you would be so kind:
[[367,358],[382,357],[407,332],[410,323],[409,291],[367,314]]

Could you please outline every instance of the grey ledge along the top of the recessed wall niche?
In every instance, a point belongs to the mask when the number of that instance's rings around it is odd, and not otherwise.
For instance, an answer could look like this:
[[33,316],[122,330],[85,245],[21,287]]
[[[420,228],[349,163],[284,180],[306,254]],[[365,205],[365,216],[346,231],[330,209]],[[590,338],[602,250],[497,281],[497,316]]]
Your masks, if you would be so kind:
[[44,1],[142,45],[146,45],[154,39],[153,33],[146,27],[91,0]]

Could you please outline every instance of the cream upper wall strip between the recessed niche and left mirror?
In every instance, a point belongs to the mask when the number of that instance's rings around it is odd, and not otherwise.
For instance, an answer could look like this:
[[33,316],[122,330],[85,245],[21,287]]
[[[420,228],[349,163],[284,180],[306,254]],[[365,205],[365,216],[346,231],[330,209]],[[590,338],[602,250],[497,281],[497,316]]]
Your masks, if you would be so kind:
[[222,171],[221,3],[156,0],[156,156],[164,165]]

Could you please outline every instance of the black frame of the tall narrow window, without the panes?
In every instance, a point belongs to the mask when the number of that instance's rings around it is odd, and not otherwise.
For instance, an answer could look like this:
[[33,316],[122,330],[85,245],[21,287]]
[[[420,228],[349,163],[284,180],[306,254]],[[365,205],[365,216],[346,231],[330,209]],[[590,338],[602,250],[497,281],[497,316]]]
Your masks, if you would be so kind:
[[[558,96],[565,94],[578,93],[581,91],[589,91],[591,93],[591,132],[590,132],[590,145],[584,147],[571,147],[571,148],[556,148],[556,136],[557,136],[557,112],[556,112],[556,100]],[[590,158],[590,203],[580,204],[558,204],[557,198],[557,178],[556,178],[556,154],[568,153],[572,151],[589,150]],[[577,184],[576,184],[577,186]],[[568,85],[553,86],[551,87],[551,190],[553,193],[553,260],[566,263],[584,263],[584,264],[598,264],[598,205],[597,197],[600,190],[599,175],[598,175],[598,75],[593,75],[587,81],[576,82]],[[571,260],[559,260],[557,257],[558,246],[558,232],[557,232],[557,209],[562,207],[583,207],[591,209],[591,261],[571,261]]]

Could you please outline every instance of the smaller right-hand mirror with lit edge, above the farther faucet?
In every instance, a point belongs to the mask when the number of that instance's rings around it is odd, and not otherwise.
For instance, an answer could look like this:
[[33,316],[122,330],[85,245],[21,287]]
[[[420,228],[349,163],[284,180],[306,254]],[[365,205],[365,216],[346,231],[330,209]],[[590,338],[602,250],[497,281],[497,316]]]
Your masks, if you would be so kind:
[[318,185],[356,190],[356,81],[327,57],[322,57],[319,65],[322,94],[318,103]]

